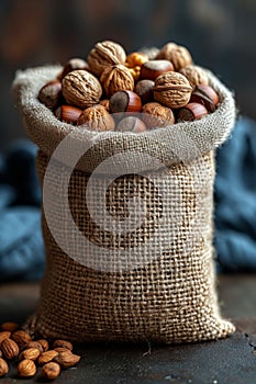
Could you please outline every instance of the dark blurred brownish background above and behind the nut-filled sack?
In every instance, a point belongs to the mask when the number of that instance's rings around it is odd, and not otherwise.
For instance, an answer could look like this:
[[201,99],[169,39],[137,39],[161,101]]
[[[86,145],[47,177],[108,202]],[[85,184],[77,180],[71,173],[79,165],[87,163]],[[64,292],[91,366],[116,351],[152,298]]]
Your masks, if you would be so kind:
[[255,0],[0,0],[0,150],[24,137],[10,88],[18,69],[86,57],[98,41],[126,52],[186,45],[256,118]]

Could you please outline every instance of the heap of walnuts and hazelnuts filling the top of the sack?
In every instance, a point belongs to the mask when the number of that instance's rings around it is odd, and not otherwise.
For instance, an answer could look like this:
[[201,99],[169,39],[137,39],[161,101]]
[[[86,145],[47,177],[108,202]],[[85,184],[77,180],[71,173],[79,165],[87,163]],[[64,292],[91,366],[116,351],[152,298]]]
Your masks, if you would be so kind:
[[68,60],[38,100],[63,122],[134,133],[199,120],[219,104],[205,70],[186,47],[167,43],[126,55],[111,41],[97,43],[87,60]]

